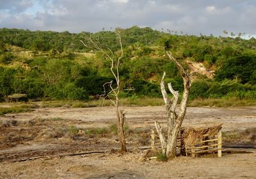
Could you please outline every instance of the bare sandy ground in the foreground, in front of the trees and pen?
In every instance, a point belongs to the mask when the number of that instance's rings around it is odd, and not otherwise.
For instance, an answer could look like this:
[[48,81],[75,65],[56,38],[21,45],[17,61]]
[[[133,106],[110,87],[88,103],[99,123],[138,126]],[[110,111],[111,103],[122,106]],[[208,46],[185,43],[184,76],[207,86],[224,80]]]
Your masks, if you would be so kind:
[[255,178],[256,153],[138,161],[138,153],[1,163],[0,178]]

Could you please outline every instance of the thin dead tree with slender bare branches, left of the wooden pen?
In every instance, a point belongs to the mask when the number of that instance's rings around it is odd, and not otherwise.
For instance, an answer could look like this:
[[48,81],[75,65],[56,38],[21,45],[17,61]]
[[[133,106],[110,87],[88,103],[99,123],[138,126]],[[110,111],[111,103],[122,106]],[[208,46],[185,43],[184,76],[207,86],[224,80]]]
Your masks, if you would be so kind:
[[[116,37],[120,45],[120,54],[118,54],[118,56],[116,56],[116,54],[111,49],[109,49],[109,47],[103,47],[102,44],[99,42],[99,39],[93,40],[92,36],[88,38],[88,43],[90,43],[90,45],[92,46],[84,43],[82,40],[81,42],[85,47],[94,49],[95,51],[102,52],[106,56],[106,58],[108,58],[111,61],[110,70],[111,70],[111,73],[113,74],[113,77],[115,78],[116,87],[115,88],[113,87],[113,81],[107,82],[106,84],[109,85],[109,87],[111,88],[111,91],[109,91],[109,93],[105,95],[105,98],[111,95],[113,95],[115,98],[115,100],[112,100],[112,99],[110,100],[115,105],[116,126],[118,129],[118,139],[120,141],[120,152],[127,152],[127,148],[125,144],[125,135],[124,135],[125,113],[124,113],[124,110],[120,109],[119,107],[119,94],[121,90],[119,67],[120,67],[120,60],[123,56],[123,47],[122,47],[121,36],[118,31],[116,31]],[[106,84],[104,84],[104,89]]]

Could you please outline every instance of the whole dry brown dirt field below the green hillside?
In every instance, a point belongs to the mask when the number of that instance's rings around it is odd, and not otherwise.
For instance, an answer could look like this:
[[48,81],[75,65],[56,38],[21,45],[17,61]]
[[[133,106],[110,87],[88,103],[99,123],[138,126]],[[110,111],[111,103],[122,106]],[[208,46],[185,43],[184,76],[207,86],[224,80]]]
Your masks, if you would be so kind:
[[37,108],[0,116],[0,178],[256,178],[256,107],[189,107],[184,127],[224,123],[223,146],[250,148],[168,162],[141,161],[146,150],[138,148],[150,144],[154,121],[164,122],[164,106],[124,108],[124,155],[116,152],[113,107]]

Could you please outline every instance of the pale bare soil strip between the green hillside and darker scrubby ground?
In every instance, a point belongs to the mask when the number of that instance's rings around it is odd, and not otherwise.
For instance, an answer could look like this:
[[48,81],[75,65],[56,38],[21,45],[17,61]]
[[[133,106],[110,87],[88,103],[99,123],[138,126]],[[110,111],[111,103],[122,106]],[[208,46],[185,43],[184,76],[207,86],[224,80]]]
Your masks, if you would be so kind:
[[[164,106],[147,107],[124,107],[127,123],[136,127],[154,126],[154,121],[165,121]],[[0,117],[2,120],[10,120],[13,117],[19,121],[32,119],[63,118],[67,120],[81,120],[86,125],[99,126],[115,120],[115,109],[113,107],[90,107],[90,108],[38,108],[33,112],[6,114]],[[219,123],[223,124],[223,130],[234,130],[248,127],[256,127],[256,107],[188,107],[186,117],[183,122],[184,127],[211,126]]]

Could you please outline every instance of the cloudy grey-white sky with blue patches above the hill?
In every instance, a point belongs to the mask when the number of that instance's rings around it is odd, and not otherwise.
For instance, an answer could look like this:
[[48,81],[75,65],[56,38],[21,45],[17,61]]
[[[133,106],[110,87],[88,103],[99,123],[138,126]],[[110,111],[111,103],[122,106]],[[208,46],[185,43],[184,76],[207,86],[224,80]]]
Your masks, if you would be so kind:
[[189,35],[256,35],[255,0],[0,0],[0,27],[100,31],[152,27]]

